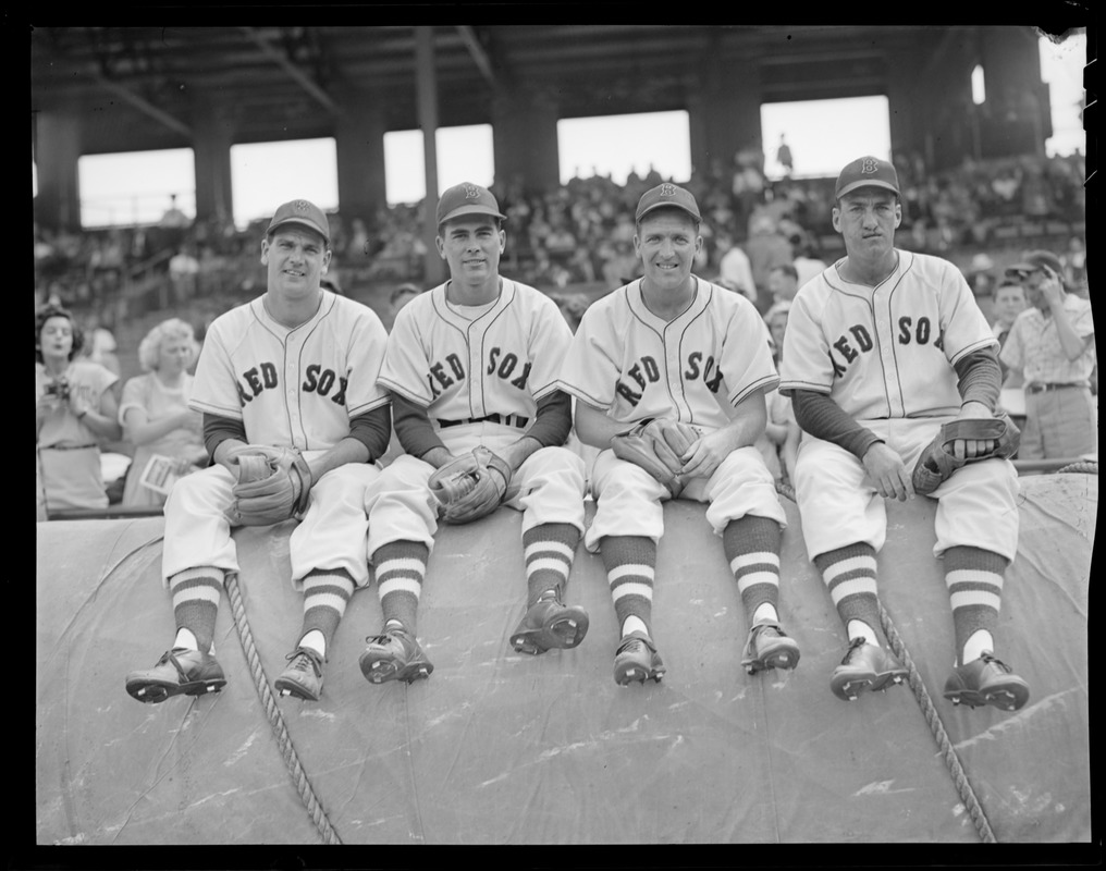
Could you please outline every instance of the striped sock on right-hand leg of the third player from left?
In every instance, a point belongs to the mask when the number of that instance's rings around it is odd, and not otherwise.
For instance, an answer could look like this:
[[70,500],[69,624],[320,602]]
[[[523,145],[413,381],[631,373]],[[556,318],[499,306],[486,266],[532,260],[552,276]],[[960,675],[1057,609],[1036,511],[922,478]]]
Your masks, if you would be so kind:
[[779,622],[780,525],[753,515],[731,520],[722,530],[722,547],[749,625],[761,620]]

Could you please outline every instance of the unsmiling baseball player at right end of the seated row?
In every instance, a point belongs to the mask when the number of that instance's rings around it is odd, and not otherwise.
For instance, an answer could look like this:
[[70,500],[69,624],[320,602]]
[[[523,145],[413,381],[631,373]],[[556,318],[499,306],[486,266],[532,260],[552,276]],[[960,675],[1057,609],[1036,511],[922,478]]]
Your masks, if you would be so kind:
[[[993,435],[997,341],[952,263],[895,248],[901,219],[890,163],[860,157],[842,169],[833,226],[845,257],[800,289],[784,336],[780,391],[804,431],[795,464],[803,536],[849,640],[831,688],[855,699],[906,675],[880,642],[876,554],[883,500],[911,498],[926,483],[956,626],[945,696],[1014,711],[1029,687],[994,655],[1019,520],[1016,471]],[[939,444],[939,433],[957,429]],[[935,468],[948,477],[932,488]]]

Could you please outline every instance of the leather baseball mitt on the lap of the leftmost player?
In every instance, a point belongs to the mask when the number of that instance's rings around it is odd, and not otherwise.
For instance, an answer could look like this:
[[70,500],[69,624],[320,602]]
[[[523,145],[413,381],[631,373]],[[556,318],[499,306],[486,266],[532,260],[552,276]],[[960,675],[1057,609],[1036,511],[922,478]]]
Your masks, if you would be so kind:
[[244,445],[230,458],[238,471],[230,519],[241,526],[271,526],[303,515],[311,495],[311,468],[295,448]]

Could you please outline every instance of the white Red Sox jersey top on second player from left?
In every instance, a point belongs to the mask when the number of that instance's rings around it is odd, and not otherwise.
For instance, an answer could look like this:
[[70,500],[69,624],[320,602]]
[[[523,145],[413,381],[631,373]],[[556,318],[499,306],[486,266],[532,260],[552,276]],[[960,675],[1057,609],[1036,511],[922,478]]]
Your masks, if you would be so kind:
[[501,281],[499,299],[473,320],[446,300],[448,282],[407,303],[388,335],[379,384],[434,421],[533,421],[538,401],[556,390],[572,330],[544,293]]

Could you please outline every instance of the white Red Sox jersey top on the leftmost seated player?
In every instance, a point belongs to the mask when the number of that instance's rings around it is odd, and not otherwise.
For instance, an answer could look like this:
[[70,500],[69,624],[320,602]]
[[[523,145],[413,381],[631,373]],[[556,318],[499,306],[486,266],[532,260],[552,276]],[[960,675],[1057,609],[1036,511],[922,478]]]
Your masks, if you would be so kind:
[[263,298],[208,329],[189,406],[242,421],[251,444],[325,450],[349,435],[349,418],[387,405],[376,377],[387,333],[376,313],[323,291],[315,315],[294,329]]

